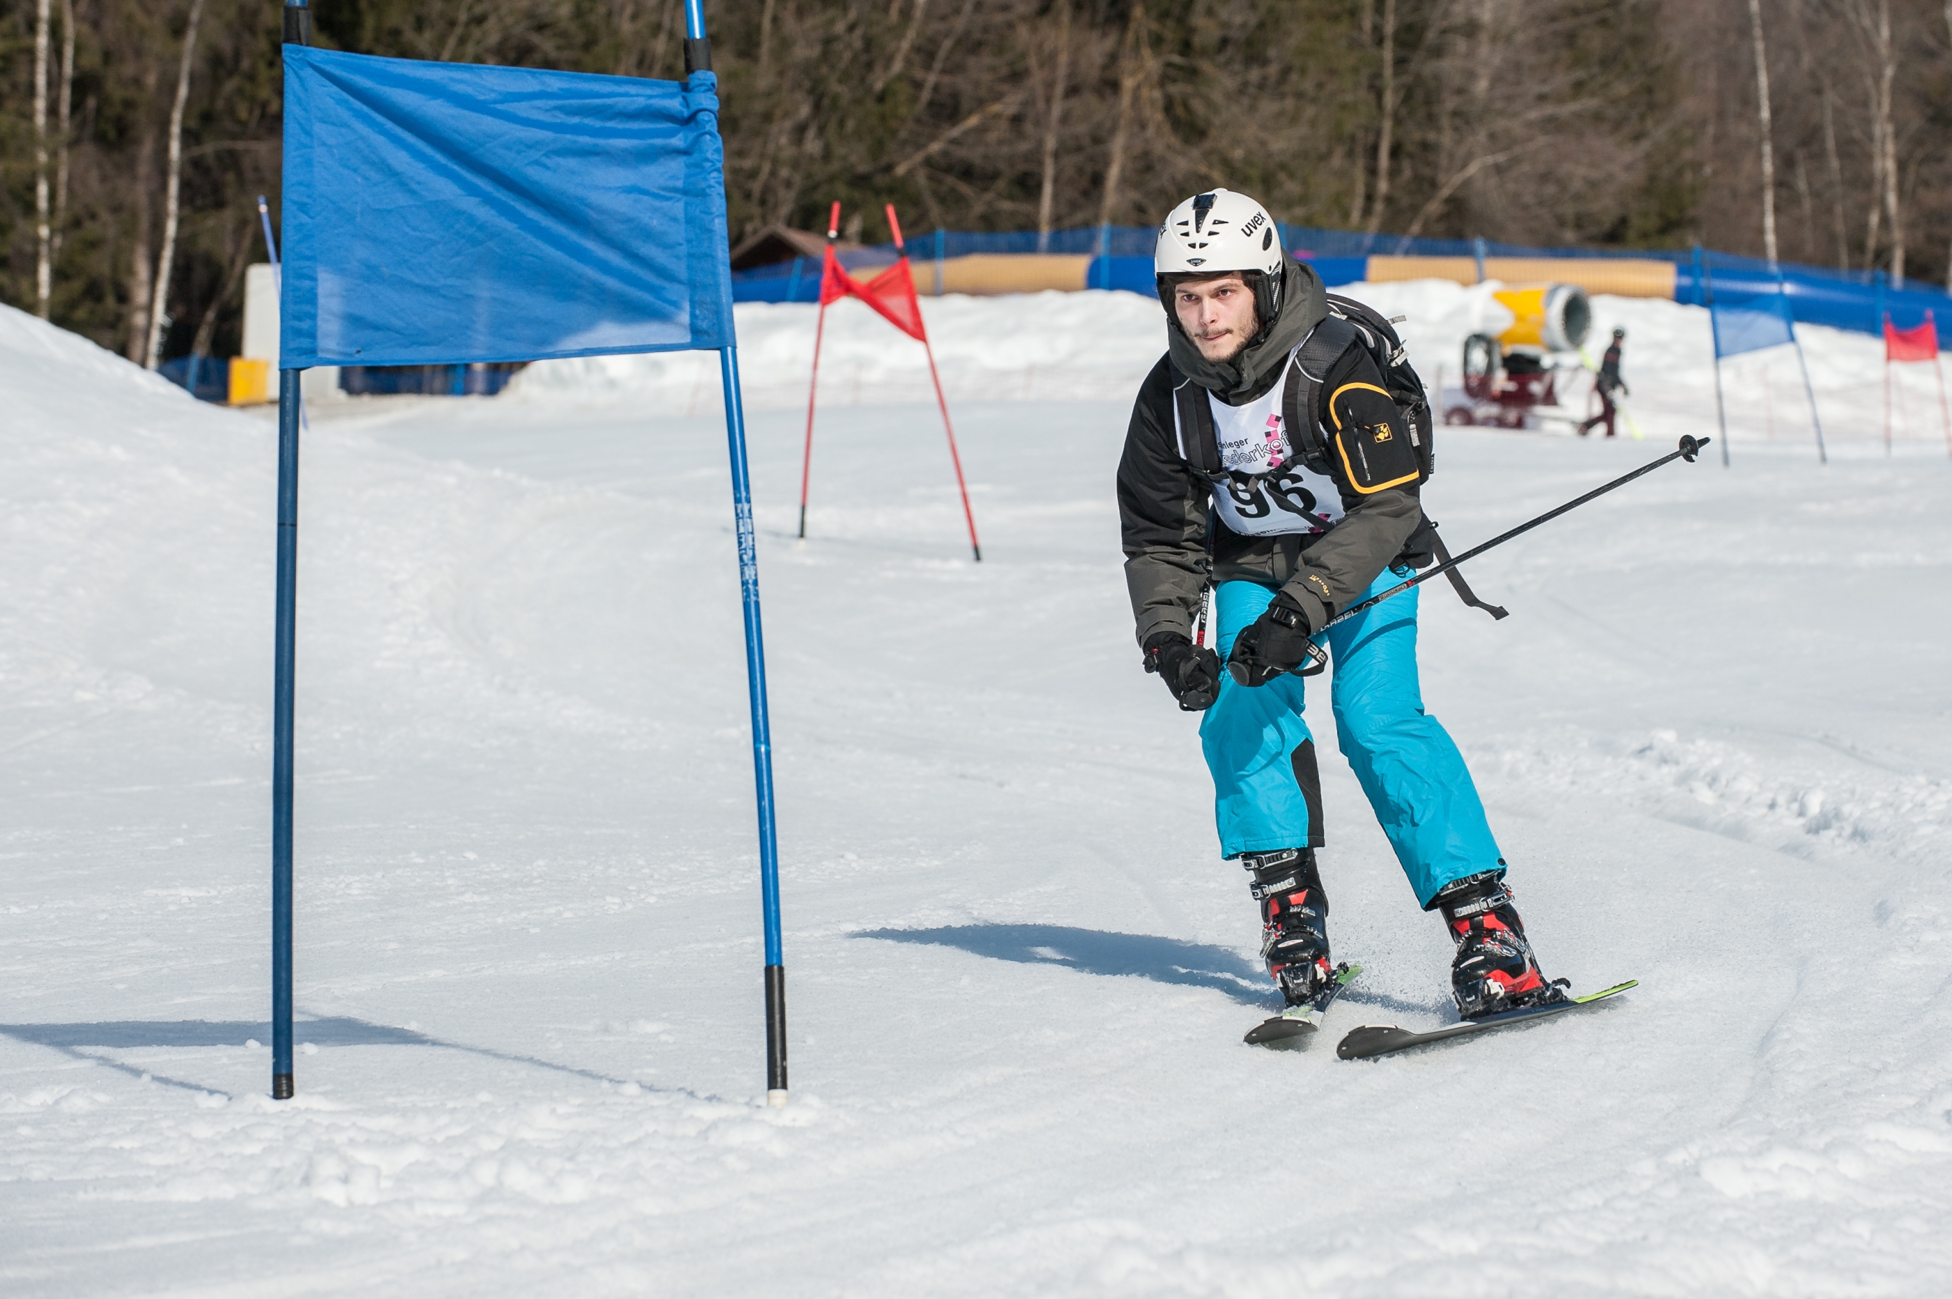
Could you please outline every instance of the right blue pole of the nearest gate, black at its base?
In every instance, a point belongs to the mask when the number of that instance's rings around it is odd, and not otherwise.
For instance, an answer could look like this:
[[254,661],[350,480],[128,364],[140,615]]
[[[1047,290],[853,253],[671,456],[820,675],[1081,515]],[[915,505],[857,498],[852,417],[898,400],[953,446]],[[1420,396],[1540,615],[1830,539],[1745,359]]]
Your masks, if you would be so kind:
[[[685,76],[712,66],[705,39],[705,0],[685,0]],[[724,256],[724,250],[720,250]],[[746,404],[738,385],[738,346],[718,352],[726,391],[726,443],[732,455],[732,522],[738,531],[738,584],[746,611],[746,690],[752,695],[752,779],[759,805],[759,906],[765,914],[765,1104],[787,1104],[787,965],[779,942],[779,836],[773,828],[773,729],[765,707],[765,635],[759,627],[759,545],[752,531],[752,471],[746,465]]]

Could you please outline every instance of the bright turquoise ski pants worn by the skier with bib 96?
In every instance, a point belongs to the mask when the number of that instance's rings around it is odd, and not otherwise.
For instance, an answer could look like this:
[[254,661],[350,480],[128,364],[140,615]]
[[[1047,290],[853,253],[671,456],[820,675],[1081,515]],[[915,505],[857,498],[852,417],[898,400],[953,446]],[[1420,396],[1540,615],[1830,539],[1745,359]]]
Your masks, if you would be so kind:
[[[1402,580],[1384,568],[1362,598]],[[1452,879],[1503,873],[1505,861],[1464,756],[1423,711],[1417,594],[1411,588],[1329,629],[1327,649],[1335,744],[1376,809],[1417,902],[1427,906]],[[1275,590],[1259,582],[1218,586],[1214,617],[1222,660],[1234,637],[1261,617],[1273,598]],[[1292,672],[1251,690],[1222,674],[1220,699],[1200,721],[1220,852],[1228,859],[1323,844],[1322,781],[1314,736],[1302,719],[1304,690],[1304,678]]]

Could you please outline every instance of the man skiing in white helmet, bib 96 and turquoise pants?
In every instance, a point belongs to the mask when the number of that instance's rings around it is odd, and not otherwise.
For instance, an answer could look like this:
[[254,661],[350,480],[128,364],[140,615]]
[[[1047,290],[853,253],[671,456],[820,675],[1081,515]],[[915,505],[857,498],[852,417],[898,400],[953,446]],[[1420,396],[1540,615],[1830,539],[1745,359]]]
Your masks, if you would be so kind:
[[[1290,1008],[1329,963],[1316,850],[1316,746],[1302,719],[1310,633],[1427,566],[1427,461],[1359,328],[1241,193],[1199,193],[1159,227],[1167,354],[1138,391],[1118,463],[1124,574],[1146,672],[1204,711],[1220,852],[1240,859],[1261,955]],[[1216,647],[1193,643],[1206,582]],[[1505,859],[1456,744],[1423,711],[1417,592],[1325,633],[1335,738],[1417,902],[1456,943],[1458,1014],[1560,1000],[1503,885]],[[1222,666],[1224,660],[1224,666]]]

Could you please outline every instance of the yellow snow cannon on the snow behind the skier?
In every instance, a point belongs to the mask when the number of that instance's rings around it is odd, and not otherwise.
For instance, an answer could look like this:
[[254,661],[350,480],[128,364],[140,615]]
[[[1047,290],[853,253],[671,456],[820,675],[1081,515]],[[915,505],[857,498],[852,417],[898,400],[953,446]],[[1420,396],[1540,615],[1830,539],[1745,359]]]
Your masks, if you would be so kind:
[[1593,305],[1573,283],[1485,283],[1470,309],[1464,340],[1464,398],[1450,424],[1525,428],[1540,406],[1558,408],[1552,357],[1577,354],[1593,328]]

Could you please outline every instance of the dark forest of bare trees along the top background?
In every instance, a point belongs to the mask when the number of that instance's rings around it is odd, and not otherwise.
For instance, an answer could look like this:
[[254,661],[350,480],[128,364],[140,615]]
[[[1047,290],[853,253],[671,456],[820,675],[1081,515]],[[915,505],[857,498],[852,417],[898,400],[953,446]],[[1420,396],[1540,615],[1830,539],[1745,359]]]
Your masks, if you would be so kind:
[[[1150,225],[1228,186],[1298,225],[1952,270],[1952,2],[707,8],[734,240],[832,199],[867,240],[888,201],[914,230]],[[334,49],[683,74],[681,0],[314,14]],[[137,361],[234,352],[256,197],[279,201],[279,8],[0,16],[0,301]]]

